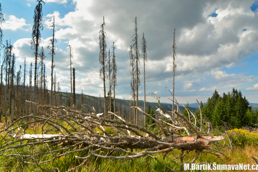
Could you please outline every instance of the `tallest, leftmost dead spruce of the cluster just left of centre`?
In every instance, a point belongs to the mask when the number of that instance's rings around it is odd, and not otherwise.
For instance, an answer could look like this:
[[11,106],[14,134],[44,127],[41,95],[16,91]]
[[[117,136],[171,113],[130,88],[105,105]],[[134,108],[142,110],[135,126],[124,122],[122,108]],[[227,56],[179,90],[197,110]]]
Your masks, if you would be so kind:
[[99,62],[101,64],[100,70],[99,70],[99,77],[103,80],[103,87],[104,87],[104,116],[107,115],[107,102],[106,102],[106,85],[105,85],[105,79],[106,79],[106,70],[105,70],[105,64],[107,61],[107,44],[106,44],[106,32],[104,31],[104,26],[106,26],[106,23],[104,21],[103,16],[103,24],[100,27],[99,31]]

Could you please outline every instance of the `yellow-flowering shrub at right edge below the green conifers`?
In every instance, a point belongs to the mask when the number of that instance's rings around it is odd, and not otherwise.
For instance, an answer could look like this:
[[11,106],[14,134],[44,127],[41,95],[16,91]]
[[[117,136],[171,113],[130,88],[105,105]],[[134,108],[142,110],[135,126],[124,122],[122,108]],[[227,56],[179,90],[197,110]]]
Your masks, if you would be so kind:
[[243,129],[233,129],[227,131],[232,143],[236,146],[244,147],[247,144],[258,145],[258,133],[248,132]]

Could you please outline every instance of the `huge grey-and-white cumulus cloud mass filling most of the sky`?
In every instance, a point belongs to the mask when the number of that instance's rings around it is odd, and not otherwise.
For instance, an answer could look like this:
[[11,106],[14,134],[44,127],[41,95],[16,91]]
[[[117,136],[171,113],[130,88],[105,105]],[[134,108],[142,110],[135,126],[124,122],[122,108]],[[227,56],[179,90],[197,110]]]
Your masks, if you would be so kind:
[[[67,3],[67,0],[45,0],[45,2]],[[102,81],[98,78],[100,64],[99,30],[105,16],[107,50],[113,41],[116,46],[117,93],[130,97],[128,49],[133,36],[134,19],[137,16],[139,45],[144,32],[147,40],[148,64],[146,67],[146,92],[166,97],[166,88],[173,85],[173,28],[176,28],[176,79],[175,94],[181,97],[196,97],[197,93],[207,94],[215,89],[243,86],[254,82],[256,76],[247,73],[226,73],[223,67],[233,68],[239,60],[258,50],[258,15],[251,11],[254,1],[131,1],[130,4],[110,1],[73,0],[75,8],[65,15],[58,9],[46,14],[44,25],[52,25],[49,20],[55,15],[56,39],[73,47],[73,67],[76,81],[85,93],[102,93]],[[114,5],[115,4],[115,5]],[[108,8],[107,8],[108,7]],[[212,17],[211,13],[217,13]],[[172,16],[172,17],[171,17]],[[50,27],[46,27],[51,29]],[[47,41],[42,39],[46,50]],[[31,57],[30,39],[18,40],[17,54]],[[55,70],[63,78],[70,66],[67,50],[59,48],[54,57]],[[32,58],[32,57],[31,57]],[[49,68],[49,60],[47,60]],[[143,65],[140,66],[141,72]],[[142,72],[143,73],[143,72]],[[143,90],[143,76],[140,77]],[[256,87],[252,87],[256,88]],[[251,89],[251,88],[250,88]],[[67,89],[69,90],[69,89]],[[158,91],[157,91],[158,90]],[[184,93],[188,90],[187,93]],[[196,91],[199,90],[199,91]],[[77,91],[77,90],[76,90]],[[182,91],[182,92],[181,92]],[[223,90],[221,90],[223,92]],[[99,92],[99,93],[98,93]],[[155,92],[155,91],[154,91]],[[140,96],[143,93],[140,92]]]

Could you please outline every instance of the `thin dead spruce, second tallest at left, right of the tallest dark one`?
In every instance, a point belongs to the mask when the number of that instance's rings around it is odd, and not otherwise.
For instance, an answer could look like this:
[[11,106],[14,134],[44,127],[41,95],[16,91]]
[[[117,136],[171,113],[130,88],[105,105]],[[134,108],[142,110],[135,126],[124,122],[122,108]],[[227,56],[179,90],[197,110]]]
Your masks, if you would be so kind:
[[52,61],[51,61],[51,90],[50,90],[50,105],[53,105],[53,70],[54,70],[54,55],[55,55],[55,46],[54,46],[54,43],[56,42],[56,39],[55,39],[55,16],[52,16],[53,19],[50,20],[49,22],[53,21],[52,22],[52,29],[53,30],[53,37],[52,39],[50,39],[50,44],[49,46],[47,47],[48,49],[50,49],[50,52],[48,54],[51,55],[52,57]]

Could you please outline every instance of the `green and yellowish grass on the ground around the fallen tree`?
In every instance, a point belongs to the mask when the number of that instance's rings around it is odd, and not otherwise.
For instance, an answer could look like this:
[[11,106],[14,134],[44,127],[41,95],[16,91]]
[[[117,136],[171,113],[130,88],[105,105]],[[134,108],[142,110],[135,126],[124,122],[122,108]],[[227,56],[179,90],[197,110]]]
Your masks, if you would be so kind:
[[[68,124],[64,125],[69,128]],[[76,124],[74,124],[76,125]],[[52,129],[52,126],[47,126],[46,128]],[[28,134],[32,133],[41,133],[42,126],[40,124],[28,127],[26,132]],[[109,127],[105,127],[105,130],[110,133],[110,134],[116,134],[116,131],[113,129],[110,129]],[[99,134],[103,134],[101,130],[95,129],[95,131],[99,131]],[[58,134],[58,131],[51,130],[49,131],[48,134]],[[6,141],[2,141],[0,143],[0,149],[3,144],[13,141],[13,139],[8,138]],[[225,144],[224,144],[225,142]],[[17,143],[19,144],[19,143]],[[216,145],[215,145],[216,144]],[[220,152],[223,152],[226,154],[227,157],[220,155],[220,157],[223,159],[225,164],[255,164],[253,157],[258,157],[258,147],[257,143],[255,144],[247,144],[244,147],[237,146],[235,147],[235,150],[230,150],[228,147],[227,141],[222,141],[222,142],[215,142],[215,144],[211,144],[211,147],[214,149],[219,150]],[[224,146],[223,146],[224,145]],[[42,145],[35,146],[33,149],[36,150],[41,150]],[[55,146],[52,147],[52,149],[59,149],[62,148],[62,146]],[[3,155],[8,155],[8,154],[24,154],[24,155],[30,155],[33,153],[33,149],[29,147],[23,147],[19,149],[9,149],[3,152]],[[70,150],[76,150],[78,147],[73,147]],[[69,150],[67,150],[69,151]],[[137,152],[138,150],[134,150]],[[64,153],[64,152],[63,152]],[[100,155],[107,155],[107,151],[104,152],[98,152]],[[82,172],[116,172],[116,171],[121,171],[121,172],[167,172],[170,171],[167,169],[165,166],[168,166],[172,168],[175,171],[179,171],[180,168],[180,162],[178,158],[180,156],[181,151],[180,150],[174,150],[173,152],[170,152],[167,154],[165,159],[163,160],[164,154],[155,154],[152,156],[157,157],[159,160],[156,161],[155,159],[145,156],[141,157],[139,159],[132,159],[128,160],[126,162],[121,162],[121,160],[109,160],[109,159],[101,159],[98,157],[92,157],[91,160],[88,162],[88,164],[85,164],[79,169],[76,169],[75,171],[82,171]],[[47,169],[47,171],[54,171],[54,172],[64,172],[67,171],[80,163],[82,163],[82,160],[75,159],[75,156],[80,156],[80,157],[85,157],[88,155],[88,152],[78,152],[78,153],[72,153],[67,156],[63,156],[59,159],[55,159],[52,162],[46,163],[44,165],[41,165],[42,168]],[[119,153],[113,153],[113,156],[123,156],[122,154],[119,155]],[[184,157],[184,162],[188,161],[191,162],[192,159],[196,156],[195,151],[190,151],[185,157]],[[52,158],[52,154],[48,155],[43,155],[40,157],[37,157],[41,161],[45,161],[48,159]],[[201,153],[199,158],[196,160],[195,163],[201,163],[201,162],[216,162],[217,164],[224,164],[224,162],[221,161],[217,156],[209,154],[209,153]],[[187,163],[187,162],[186,162]],[[0,156],[0,171],[3,172],[30,172],[30,171],[41,171],[41,169],[36,166],[36,165],[31,165],[31,164],[26,164],[26,163],[21,163],[20,160],[17,160],[13,157],[6,157],[6,156]],[[218,170],[219,171],[219,170]],[[230,170],[229,170],[230,171]],[[231,170],[232,171],[232,170]],[[230,172],[231,172],[230,171]],[[233,172],[233,171],[232,171]]]

